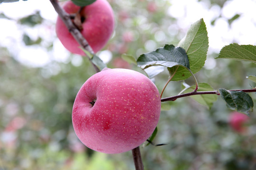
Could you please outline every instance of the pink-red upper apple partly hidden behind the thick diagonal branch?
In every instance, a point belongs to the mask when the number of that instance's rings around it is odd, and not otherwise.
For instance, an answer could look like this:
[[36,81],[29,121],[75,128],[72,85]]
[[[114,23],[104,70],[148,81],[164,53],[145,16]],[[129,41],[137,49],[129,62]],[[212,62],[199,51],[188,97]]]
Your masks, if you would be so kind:
[[[75,14],[81,7],[74,5],[72,1],[67,1],[63,8],[67,13]],[[96,53],[106,45],[114,31],[113,10],[107,0],[96,0],[91,5],[85,6],[81,15],[85,18],[81,33]],[[85,55],[80,49],[81,45],[76,42],[60,17],[57,17],[56,21],[56,34],[68,51]]]

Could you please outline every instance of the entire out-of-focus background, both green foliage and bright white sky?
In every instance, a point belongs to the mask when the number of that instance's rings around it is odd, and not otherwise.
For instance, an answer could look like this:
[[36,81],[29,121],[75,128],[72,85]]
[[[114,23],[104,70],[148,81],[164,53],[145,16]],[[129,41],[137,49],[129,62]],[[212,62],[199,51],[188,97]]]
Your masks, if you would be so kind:
[[[39,2],[55,13],[48,1]],[[143,73],[125,62],[121,54],[137,58],[167,43],[177,45],[189,26],[204,18],[210,48],[205,67],[196,74],[199,83],[206,82],[214,89],[256,86],[246,79],[255,75],[255,64],[214,59],[229,43],[256,45],[256,15],[250,13],[255,11],[251,9],[256,7],[255,1],[109,2],[115,12],[116,29],[109,43],[97,53],[108,67]],[[36,11],[11,17],[4,11],[25,3],[32,0],[0,3],[0,170],[135,169],[131,152],[97,153],[76,137],[71,119],[73,101],[82,84],[95,74],[94,69],[88,59],[70,54],[58,42],[56,15],[51,20],[44,17],[43,11]],[[240,8],[234,8],[238,7],[234,4]],[[160,92],[167,80],[167,70],[155,77]],[[178,94],[182,83],[171,82],[163,97]],[[189,78],[185,83],[193,85],[193,80]],[[256,102],[256,94],[250,95]],[[166,145],[141,145],[145,169],[255,170],[255,111],[244,133],[229,126],[230,112],[220,97],[210,110],[190,97],[166,102],[153,141]]]

